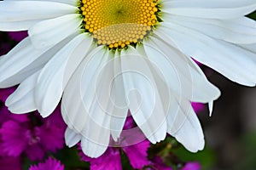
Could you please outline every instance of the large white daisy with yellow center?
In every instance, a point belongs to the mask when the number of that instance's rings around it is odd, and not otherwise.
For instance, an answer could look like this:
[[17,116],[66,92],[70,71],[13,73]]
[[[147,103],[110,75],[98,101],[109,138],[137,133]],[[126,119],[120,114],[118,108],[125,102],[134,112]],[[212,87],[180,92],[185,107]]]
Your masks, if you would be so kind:
[[256,82],[255,0],[6,0],[0,30],[26,37],[0,58],[0,88],[20,84],[6,105],[49,116],[61,98],[69,146],[101,156],[128,110],[156,143],[171,134],[204,147],[190,102],[219,96],[190,58],[234,82]]

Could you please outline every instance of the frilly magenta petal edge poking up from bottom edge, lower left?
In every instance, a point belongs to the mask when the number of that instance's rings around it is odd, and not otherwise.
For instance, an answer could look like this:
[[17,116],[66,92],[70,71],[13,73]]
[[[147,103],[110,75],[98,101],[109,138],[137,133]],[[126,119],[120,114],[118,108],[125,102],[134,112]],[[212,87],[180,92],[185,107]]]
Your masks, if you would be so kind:
[[64,165],[61,164],[61,161],[49,157],[44,163],[30,166],[29,170],[64,170]]

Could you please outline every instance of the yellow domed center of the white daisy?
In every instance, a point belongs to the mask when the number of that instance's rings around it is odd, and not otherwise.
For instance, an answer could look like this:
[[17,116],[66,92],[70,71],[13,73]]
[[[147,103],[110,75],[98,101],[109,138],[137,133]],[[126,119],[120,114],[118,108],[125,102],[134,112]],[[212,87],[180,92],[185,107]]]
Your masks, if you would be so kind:
[[84,28],[98,45],[125,48],[157,23],[158,0],[82,0]]

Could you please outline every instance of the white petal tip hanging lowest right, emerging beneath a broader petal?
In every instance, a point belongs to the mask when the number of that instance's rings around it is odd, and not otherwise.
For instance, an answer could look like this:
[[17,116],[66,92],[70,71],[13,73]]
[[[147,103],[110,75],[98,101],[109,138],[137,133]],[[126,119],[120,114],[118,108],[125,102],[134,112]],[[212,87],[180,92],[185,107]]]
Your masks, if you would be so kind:
[[189,101],[172,100],[172,107],[167,116],[168,133],[192,152],[202,150],[205,144],[201,124]]

